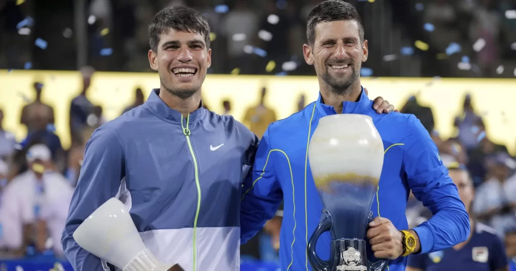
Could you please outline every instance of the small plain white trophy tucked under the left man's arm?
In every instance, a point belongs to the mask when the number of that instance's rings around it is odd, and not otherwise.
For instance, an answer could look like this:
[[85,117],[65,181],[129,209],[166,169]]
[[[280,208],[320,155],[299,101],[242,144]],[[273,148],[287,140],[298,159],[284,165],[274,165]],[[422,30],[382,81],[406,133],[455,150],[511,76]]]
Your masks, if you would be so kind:
[[184,271],[179,264],[160,263],[145,247],[124,204],[111,198],[75,230],[77,244],[123,271]]

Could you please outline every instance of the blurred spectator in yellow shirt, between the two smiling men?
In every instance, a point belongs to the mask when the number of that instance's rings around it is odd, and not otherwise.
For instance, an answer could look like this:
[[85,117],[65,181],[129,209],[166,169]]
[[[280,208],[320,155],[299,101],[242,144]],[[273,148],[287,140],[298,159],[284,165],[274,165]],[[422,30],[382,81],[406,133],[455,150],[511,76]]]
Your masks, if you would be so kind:
[[244,124],[246,124],[251,132],[261,138],[270,123],[276,121],[276,113],[274,110],[265,106],[265,96],[267,89],[262,88],[260,103],[247,109],[244,116]]

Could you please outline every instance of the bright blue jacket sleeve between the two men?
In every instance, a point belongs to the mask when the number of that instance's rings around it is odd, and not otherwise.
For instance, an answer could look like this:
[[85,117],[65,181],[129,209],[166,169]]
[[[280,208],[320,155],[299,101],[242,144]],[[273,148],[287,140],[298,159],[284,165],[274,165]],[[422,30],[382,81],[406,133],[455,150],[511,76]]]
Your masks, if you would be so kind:
[[281,186],[274,172],[275,152],[270,147],[269,130],[270,125],[258,144],[254,165],[242,187],[241,244],[245,244],[263,228],[265,222],[275,215],[283,199]]

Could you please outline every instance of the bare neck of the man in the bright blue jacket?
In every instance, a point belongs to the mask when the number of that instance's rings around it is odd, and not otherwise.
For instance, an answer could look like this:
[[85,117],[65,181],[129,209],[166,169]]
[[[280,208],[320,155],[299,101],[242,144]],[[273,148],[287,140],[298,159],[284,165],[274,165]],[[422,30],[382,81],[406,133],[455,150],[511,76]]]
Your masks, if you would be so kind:
[[[345,91],[335,91],[332,87],[321,84],[319,82],[319,89],[321,92],[322,100],[326,105],[331,105],[335,108],[335,111],[338,114],[342,113],[342,103],[344,102],[356,102],[362,93],[362,86],[360,84],[360,79],[356,80],[351,86],[349,86]],[[336,94],[337,92],[343,94]]]

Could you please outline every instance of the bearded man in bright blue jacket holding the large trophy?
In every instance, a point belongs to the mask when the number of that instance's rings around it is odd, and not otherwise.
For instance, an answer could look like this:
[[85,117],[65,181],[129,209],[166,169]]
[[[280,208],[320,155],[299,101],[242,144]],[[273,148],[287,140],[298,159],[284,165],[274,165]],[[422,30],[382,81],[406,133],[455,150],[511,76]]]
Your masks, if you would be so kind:
[[[401,256],[464,242],[470,233],[469,218],[428,132],[413,115],[377,115],[361,87],[360,68],[368,50],[357,10],[340,0],[320,3],[310,12],[307,38],[304,57],[315,67],[320,96],[299,113],[270,124],[262,137],[254,180],[243,187],[241,242],[263,227],[283,199],[281,267],[311,270],[307,243],[323,206],[312,179],[308,148],[319,119],[337,113],[372,117],[383,140],[383,169],[372,206],[375,219],[367,231],[375,257],[390,259],[389,271],[401,271],[406,263]],[[410,190],[434,215],[409,230],[405,208]],[[404,246],[408,238],[414,238],[410,243],[414,246]],[[328,232],[319,238],[316,250],[321,259],[330,258],[330,241]]]

